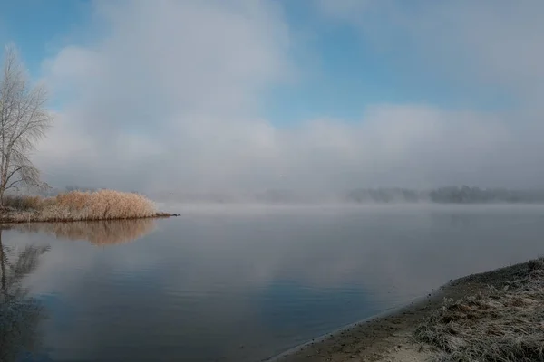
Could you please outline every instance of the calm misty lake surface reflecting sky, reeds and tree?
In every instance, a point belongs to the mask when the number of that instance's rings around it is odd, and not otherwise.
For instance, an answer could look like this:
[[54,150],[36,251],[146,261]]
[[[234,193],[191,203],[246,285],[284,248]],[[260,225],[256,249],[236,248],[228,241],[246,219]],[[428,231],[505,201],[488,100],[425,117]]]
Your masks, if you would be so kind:
[[544,254],[539,205],[171,208],[5,227],[5,360],[266,360]]

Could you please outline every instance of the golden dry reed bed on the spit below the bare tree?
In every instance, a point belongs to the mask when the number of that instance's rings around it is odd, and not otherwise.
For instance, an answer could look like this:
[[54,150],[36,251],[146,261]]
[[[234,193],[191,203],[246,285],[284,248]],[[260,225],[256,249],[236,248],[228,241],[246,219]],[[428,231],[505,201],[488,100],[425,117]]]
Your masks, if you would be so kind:
[[63,222],[166,216],[143,195],[112,190],[72,191],[53,197],[5,196],[0,222]]

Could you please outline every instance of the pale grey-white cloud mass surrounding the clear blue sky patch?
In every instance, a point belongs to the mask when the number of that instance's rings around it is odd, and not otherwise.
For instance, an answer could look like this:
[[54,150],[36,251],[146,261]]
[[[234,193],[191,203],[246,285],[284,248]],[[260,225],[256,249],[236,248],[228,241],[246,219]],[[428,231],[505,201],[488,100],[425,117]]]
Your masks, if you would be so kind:
[[[281,5],[94,3],[101,33],[44,61],[44,80],[63,100],[34,158],[45,179],[195,192],[544,186],[541,3],[316,1],[325,22],[405,56],[413,71],[500,87],[519,105],[375,104],[357,122],[324,115],[291,126],[260,111],[270,87],[304,68]],[[394,50],[400,37],[405,48]]]

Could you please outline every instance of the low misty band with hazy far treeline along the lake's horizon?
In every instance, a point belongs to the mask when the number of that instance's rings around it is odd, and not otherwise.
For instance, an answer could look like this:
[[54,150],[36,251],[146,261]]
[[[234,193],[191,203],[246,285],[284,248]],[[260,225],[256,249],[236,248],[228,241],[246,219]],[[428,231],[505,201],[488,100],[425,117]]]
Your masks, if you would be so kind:
[[262,192],[160,192],[161,202],[189,204],[544,204],[544,189],[447,186],[427,190],[356,188],[345,192],[269,189]]

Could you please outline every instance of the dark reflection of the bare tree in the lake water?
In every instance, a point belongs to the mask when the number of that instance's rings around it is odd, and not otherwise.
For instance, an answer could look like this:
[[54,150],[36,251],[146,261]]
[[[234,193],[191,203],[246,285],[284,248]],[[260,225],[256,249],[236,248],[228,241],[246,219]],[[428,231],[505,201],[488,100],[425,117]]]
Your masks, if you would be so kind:
[[27,245],[18,251],[2,242],[0,229],[0,361],[15,361],[21,352],[36,347],[36,329],[44,313],[39,302],[28,297],[22,281],[47,250],[49,246]]

